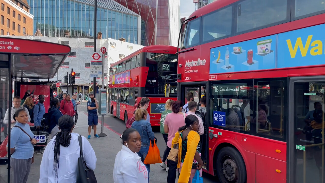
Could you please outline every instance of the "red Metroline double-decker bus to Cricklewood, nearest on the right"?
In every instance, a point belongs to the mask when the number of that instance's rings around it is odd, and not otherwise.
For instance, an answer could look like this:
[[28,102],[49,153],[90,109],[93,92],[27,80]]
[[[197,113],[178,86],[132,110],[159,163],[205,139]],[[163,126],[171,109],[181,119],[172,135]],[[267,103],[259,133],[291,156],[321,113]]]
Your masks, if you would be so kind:
[[182,23],[178,99],[207,96],[221,183],[324,183],[324,0],[218,0]]

